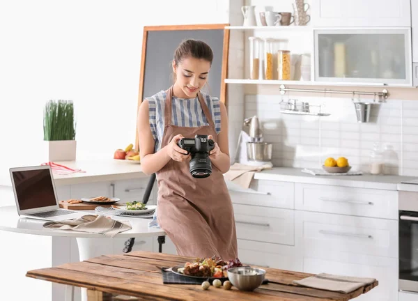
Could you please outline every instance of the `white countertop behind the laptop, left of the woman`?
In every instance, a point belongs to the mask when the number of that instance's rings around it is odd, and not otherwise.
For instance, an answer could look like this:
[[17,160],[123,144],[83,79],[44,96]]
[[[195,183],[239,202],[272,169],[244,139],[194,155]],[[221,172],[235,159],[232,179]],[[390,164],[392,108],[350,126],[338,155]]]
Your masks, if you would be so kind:
[[[110,180],[129,180],[134,178],[146,178],[142,172],[141,164],[132,164],[119,160],[77,160],[56,162],[57,164],[70,167],[71,169],[82,169],[84,173],[72,173],[70,175],[54,174],[55,184],[76,185],[85,183],[104,182]],[[38,165],[35,163],[33,165]],[[19,167],[22,165],[13,165]],[[30,166],[30,164],[26,165]],[[0,173],[0,186],[11,186],[10,174],[7,169],[2,169]]]

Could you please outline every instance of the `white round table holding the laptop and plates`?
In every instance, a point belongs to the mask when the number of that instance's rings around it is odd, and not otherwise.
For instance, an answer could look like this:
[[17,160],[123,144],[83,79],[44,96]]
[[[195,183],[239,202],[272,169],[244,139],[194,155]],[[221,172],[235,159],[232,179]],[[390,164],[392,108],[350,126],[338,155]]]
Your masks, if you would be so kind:
[[[86,214],[98,214],[94,210],[86,210]],[[128,220],[132,229],[116,234],[114,238],[145,238],[151,236],[165,236],[162,229],[148,228],[150,219],[137,217],[118,217],[107,215],[112,219],[119,221]],[[76,238],[79,250],[79,259],[84,261],[88,258],[97,257],[104,254],[112,254],[113,242],[108,236],[97,233],[86,233],[72,230],[56,230],[44,228],[45,220],[31,219],[17,215],[15,206],[0,207],[0,231],[9,231],[16,233],[33,234],[39,236],[61,236]],[[159,240],[160,242],[160,240]],[[161,242],[160,242],[161,248]],[[72,300],[73,287],[67,290],[67,300]],[[82,294],[82,300],[86,300],[85,292]]]

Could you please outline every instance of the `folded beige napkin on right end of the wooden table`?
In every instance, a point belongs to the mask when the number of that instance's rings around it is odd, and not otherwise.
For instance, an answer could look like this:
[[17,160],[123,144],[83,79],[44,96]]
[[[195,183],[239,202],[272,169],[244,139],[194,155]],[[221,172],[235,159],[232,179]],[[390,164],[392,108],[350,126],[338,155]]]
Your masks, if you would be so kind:
[[360,278],[320,273],[304,279],[293,280],[293,284],[323,289],[326,291],[351,293],[357,288],[372,284],[374,281],[376,281],[375,278]]

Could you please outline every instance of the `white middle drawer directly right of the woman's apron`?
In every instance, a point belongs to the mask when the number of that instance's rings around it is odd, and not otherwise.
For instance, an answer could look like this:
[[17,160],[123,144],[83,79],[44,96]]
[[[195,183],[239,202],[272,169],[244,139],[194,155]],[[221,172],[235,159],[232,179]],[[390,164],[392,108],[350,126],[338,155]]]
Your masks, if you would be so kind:
[[294,245],[294,210],[233,204],[239,239]]

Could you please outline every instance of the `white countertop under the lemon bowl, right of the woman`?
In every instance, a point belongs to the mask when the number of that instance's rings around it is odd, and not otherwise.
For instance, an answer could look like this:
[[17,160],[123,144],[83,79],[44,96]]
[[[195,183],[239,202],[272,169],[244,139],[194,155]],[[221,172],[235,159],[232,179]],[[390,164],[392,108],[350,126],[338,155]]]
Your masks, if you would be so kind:
[[302,169],[290,167],[274,167],[272,169],[264,170],[255,173],[254,178],[257,180],[277,180],[381,190],[397,190],[398,183],[417,179],[410,176],[373,176],[366,173],[362,176],[312,176],[309,173],[302,173]]

